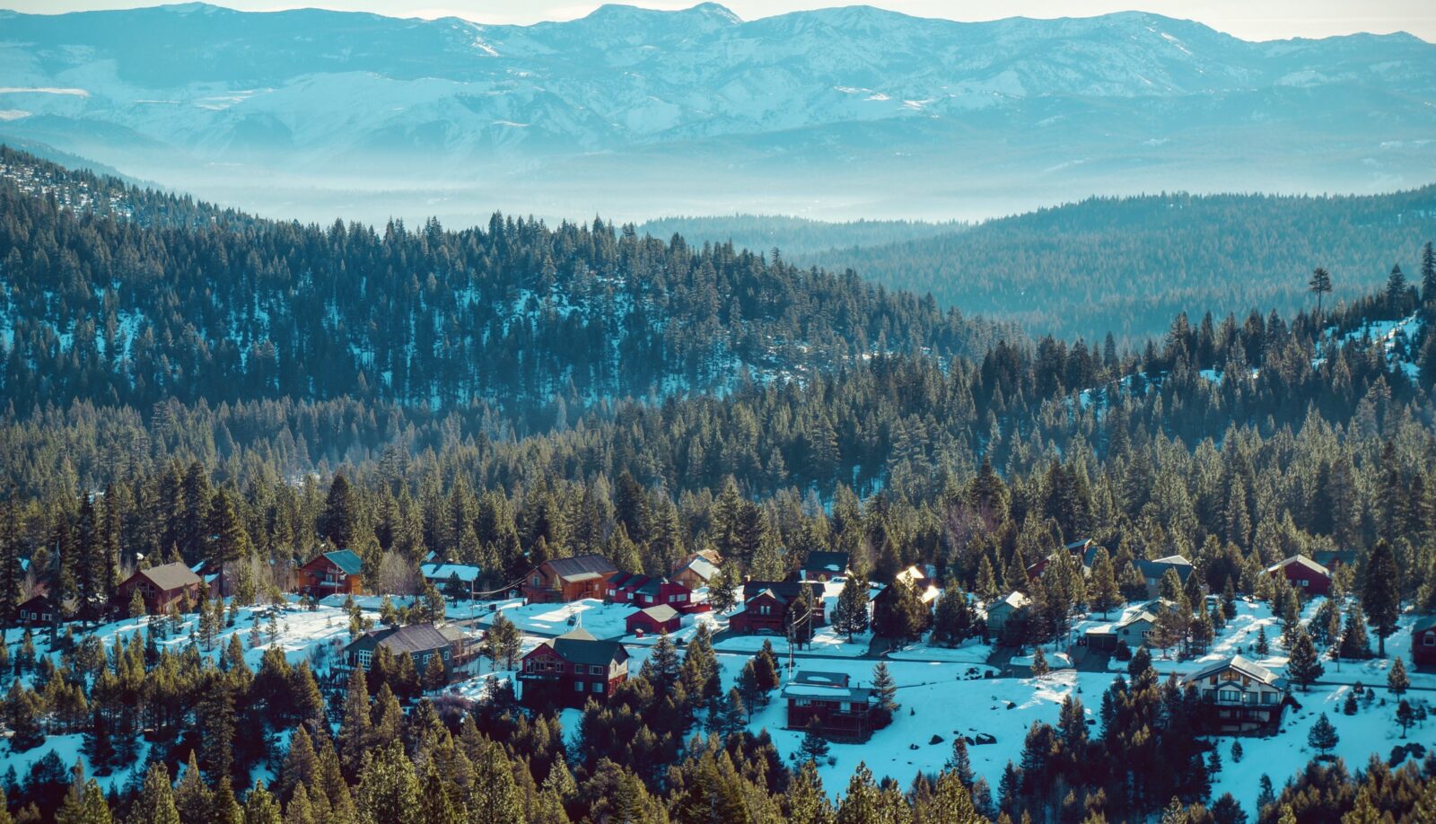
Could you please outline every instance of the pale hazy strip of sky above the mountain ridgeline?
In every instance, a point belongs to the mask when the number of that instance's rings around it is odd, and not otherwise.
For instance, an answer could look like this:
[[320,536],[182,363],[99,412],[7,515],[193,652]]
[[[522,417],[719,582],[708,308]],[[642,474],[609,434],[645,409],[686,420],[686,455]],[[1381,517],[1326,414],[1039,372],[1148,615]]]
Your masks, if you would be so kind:
[[[633,0],[651,9],[686,9],[696,0]],[[155,6],[146,0],[0,0],[17,11],[57,13],[83,9]],[[467,17],[478,23],[570,20],[600,6],[592,0],[223,0],[218,6],[271,11],[304,6],[378,11],[396,17]],[[843,0],[729,0],[724,6],[751,20],[798,9],[849,6]],[[872,0],[872,6],[923,17],[991,20],[995,17],[1076,17],[1140,9],[1200,20],[1248,40],[1325,37],[1353,32],[1410,32],[1436,42],[1432,0]]]

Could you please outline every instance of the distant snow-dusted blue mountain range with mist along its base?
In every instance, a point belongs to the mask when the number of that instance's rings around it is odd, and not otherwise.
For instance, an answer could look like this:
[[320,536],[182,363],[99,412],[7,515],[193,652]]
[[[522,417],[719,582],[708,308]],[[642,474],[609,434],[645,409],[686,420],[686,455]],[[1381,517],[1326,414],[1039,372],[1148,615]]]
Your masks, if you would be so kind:
[[1147,13],[742,22],[205,4],[0,11],[0,136],[271,214],[984,217],[1094,192],[1387,191],[1436,169],[1436,46]]

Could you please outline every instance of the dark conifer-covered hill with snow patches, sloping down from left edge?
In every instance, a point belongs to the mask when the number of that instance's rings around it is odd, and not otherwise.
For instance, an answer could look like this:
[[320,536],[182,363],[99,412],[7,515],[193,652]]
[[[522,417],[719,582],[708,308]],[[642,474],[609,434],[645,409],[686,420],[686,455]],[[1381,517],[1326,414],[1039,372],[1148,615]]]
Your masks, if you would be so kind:
[[[724,390],[742,370],[945,357],[995,334],[856,276],[602,221],[320,228],[4,161],[0,389],[16,401],[477,399],[549,425],[613,398]],[[36,197],[52,178],[60,197]]]

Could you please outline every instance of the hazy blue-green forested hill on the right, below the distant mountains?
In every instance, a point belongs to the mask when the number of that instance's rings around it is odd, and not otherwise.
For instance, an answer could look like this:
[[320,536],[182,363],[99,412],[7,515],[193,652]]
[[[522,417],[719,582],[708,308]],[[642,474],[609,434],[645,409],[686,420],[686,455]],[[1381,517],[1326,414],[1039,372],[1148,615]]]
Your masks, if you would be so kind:
[[1436,187],[1327,198],[1163,194],[1091,198],[923,240],[794,258],[852,267],[1035,334],[1090,342],[1111,332],[1140,342],[1179,312],[1311,309],[1314,266],[1331,271],[1333,299],[1350,300],[1380,286],[1393,264],[1414,271],[1413,253],[1433,234]]

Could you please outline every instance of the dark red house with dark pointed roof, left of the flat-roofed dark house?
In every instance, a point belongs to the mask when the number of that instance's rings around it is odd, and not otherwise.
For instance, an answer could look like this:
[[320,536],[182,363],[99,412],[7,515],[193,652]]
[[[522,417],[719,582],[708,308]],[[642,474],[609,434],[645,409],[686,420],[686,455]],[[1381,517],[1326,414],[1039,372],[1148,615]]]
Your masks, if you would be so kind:
[[521,701],[527,706],[582,708],[592,698],[603,702],[628,680],[628,650],[616,640],[597,640],[579,627],[549,639],[520,663]]

